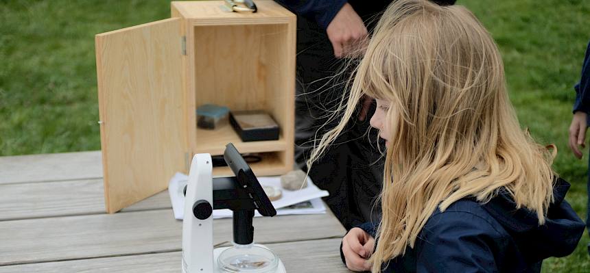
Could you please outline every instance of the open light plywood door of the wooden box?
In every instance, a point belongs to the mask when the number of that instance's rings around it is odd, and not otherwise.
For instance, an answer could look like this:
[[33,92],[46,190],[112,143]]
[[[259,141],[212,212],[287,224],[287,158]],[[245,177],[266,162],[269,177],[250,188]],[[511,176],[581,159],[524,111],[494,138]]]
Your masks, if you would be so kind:
[[180,18],[97,34],[106,211],[165,190],[186,171]]

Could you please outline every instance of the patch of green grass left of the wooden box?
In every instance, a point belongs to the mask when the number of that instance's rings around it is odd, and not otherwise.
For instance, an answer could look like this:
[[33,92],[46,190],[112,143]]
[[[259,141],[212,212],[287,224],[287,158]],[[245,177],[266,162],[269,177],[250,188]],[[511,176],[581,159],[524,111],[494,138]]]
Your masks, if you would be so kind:
[[0,1],[0,155],[100,149],[94,35],[169,1]]

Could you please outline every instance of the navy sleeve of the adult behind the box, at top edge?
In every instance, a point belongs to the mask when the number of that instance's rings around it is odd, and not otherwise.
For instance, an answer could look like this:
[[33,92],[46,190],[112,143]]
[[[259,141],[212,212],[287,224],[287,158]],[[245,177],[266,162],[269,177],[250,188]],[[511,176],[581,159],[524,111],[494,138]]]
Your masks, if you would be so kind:
[[314,19],[320,27],[327,29],[346,0],[274,0],[295,14]]

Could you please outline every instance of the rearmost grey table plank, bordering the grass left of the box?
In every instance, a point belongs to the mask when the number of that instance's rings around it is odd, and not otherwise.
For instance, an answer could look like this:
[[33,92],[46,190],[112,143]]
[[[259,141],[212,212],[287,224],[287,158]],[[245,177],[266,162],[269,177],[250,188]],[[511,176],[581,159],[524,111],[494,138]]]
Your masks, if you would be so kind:
[[0,184],[97,178],[100,151],[0,157]]

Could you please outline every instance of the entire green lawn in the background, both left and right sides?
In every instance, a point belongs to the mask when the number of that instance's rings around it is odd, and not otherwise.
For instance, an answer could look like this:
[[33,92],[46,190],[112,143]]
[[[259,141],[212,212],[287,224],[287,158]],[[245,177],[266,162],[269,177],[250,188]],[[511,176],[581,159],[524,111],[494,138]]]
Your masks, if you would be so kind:
[[[587,0],[459,0],[491,31],[523,127],[558,146],[555,168],[584,218],[587,159],[569,151],[572,86],[590,33]],[[100,148],[94,35],[169,17],[169,1],[0,1],[0,155]],[[590,272],[576,252],[544,272]]]

